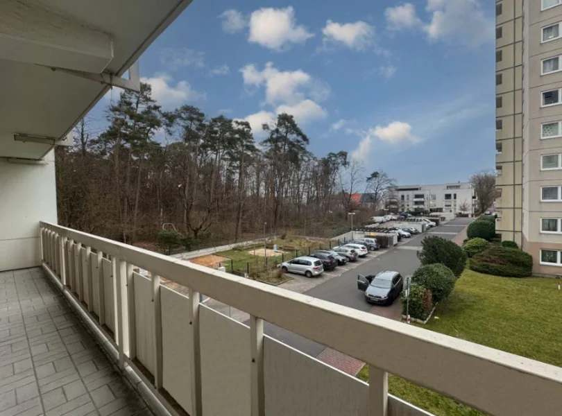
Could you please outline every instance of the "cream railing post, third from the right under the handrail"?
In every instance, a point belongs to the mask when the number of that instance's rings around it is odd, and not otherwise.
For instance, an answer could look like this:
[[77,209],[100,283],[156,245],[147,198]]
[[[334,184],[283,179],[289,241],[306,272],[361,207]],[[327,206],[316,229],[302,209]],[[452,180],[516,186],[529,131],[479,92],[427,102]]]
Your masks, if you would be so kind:
[[199,292],[189,288],[189,329],[191,331],[191,403],[194,415],[203,414],[201,404],[201,345],[199,343]]

